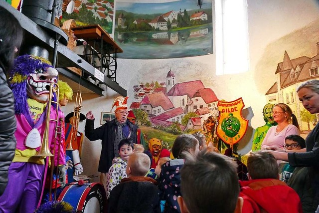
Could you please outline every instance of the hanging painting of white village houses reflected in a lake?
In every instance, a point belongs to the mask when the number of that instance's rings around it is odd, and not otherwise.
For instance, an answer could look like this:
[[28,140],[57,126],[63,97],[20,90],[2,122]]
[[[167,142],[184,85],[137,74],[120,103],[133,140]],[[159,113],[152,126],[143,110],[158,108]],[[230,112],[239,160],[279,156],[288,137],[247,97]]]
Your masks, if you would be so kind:
[[212,3],[117,2],[114,38],[119,58],[179,58],[213,53]]

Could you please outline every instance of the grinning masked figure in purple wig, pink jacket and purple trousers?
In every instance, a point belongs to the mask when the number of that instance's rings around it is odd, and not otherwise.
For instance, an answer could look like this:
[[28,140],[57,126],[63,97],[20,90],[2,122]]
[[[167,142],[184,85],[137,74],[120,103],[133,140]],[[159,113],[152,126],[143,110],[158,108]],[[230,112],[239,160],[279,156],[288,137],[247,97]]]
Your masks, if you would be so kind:
[[[0,197],[0,211],[2,212],[33,213],[38,205],[47,161],[45,161],[45,157],[35,157],[34,155],[40,149],[40,146],[37,145],[38,142],[41,143],[45,129],[45,100],[48,97],[46,88],[50,86],[51,80],[56,80],[57,74],[50,62],[44,58],[22,55],[15,59],[15,66],[9,81],[15,97],[14,110],[17,122],[15,137],[17,143],[15,156],[9,167],[8,186]],[[28,98],[34,100],[27,100]],[[54,99],[56,100],[56,97]],[[43,109],[43,107],[45,108]],[[51,106],[51,119],[63,116],[61,111],[57,115],[56,107],[56,105]],[[37,112],[34,110],[37,110]],[[49,149],[51,153],[58,156],[58,149],[60,147],[60,150],[63,151],[63,146],[58,138],[54,147],[54,128],[55,122],[50,121],[50,131],[48,131]],[[31,130],[32,132],[38,131],[40,139],[36,137],[32,141],[32,138],[28,138],[27,136]],[[63,133],[61,137],[64,137]],[[27,138],[30,140],[26,140]],[[55,153],[53,152],[54,148]],[[59,155],[59,162],[57,162],[56,157],[54,165],[65,164],[64,153],[61,152]]]

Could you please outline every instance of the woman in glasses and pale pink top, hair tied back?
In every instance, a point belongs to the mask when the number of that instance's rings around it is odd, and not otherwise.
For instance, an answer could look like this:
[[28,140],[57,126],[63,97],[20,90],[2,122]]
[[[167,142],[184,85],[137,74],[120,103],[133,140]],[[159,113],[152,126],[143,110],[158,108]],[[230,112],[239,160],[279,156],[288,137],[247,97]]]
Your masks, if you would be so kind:
[[278,125],[272,126],[268,130],[261,144],[262,150],[270,147],[283,148],[285,138],[288,135],[300,135],[297,118],[287,104],[276,104],[273,108],[272,115]]

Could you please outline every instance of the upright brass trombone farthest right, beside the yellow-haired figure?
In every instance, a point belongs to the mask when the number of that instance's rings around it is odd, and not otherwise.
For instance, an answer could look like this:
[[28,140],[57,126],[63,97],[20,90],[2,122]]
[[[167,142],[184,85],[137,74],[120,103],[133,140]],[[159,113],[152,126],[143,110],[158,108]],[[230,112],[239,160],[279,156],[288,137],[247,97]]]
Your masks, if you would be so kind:
[[72,128],[70,133],[70,142],[66,148],[66,150],[73,150],[72,142],[76,141],[77,133],[78,133],[78,126],[80,121],[80,111],[82,108],[82,92],[79,90],[76,93],[75,103],[74,103],[74,110],[73,110],[73,120],[72,120]]

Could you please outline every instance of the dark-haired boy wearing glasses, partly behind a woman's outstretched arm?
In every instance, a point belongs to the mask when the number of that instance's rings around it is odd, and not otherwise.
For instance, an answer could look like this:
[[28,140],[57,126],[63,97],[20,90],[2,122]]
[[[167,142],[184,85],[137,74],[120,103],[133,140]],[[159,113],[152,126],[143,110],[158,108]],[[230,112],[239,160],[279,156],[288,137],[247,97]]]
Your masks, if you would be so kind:
[[[285,138],[283,148],[286,152],[301,152],[306,148],[305,139],[299,135],[289,135]],[[309,168],[294,167],[289,163],[279,164],[279,179],[293,188],[300,197],[304,213],[314,213],[314,192],[311,186]]]

